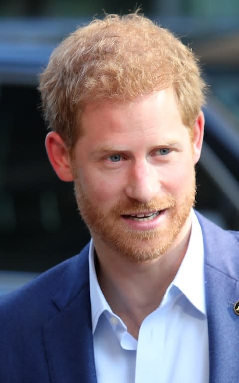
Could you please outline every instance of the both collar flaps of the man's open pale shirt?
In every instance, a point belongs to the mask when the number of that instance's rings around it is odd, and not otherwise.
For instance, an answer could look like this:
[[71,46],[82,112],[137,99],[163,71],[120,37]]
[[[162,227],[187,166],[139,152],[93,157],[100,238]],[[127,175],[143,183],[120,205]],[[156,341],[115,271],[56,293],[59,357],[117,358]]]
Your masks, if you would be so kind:
[[[167,292],[172,290],[172,286],[177,287],[186,298],[201,313],[206,315],[206,303],[204,292],[204,249],[203,236],[200,224],[194,211],[191,211],[192,227],[188,248],[180,268],[168,287]],[[90,241],[89,248],[89,280],[90,280],[90,299],[91,299],[91,317],[92,333],[94,334],[99,317],[106,311],[112,315],[113,312],[107,303],[101,288],[99,286],[95,262],[94,262],[94,244]],[[167,293],[164,298],[166,298]]]

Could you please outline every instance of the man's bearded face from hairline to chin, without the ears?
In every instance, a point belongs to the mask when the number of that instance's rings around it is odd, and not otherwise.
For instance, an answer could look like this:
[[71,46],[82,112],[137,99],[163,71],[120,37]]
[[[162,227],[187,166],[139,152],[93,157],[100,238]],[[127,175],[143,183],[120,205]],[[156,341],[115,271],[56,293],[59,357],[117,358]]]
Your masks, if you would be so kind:
[[190,230],[198,160],[173,90],[89,104],[81,128],[75,194],[96,248],[137,262],[160,257]]

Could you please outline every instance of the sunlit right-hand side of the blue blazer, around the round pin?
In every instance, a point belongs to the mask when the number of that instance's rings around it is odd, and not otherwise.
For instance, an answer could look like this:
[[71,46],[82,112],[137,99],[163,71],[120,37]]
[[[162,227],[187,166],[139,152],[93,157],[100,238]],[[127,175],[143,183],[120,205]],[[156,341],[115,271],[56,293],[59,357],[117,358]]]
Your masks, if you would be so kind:
[[205,293],[210,383],[239,380],[239,243],[236,237],[198,216],[204,237]]

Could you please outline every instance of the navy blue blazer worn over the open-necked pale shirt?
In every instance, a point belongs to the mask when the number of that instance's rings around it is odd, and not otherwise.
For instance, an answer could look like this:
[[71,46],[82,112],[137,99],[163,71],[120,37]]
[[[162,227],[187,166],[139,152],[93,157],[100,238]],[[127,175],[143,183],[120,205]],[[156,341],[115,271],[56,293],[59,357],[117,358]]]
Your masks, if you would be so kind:
[[[239,316],[233,306],[239,300],[239,233],[198,219],[205,249],[210,383],[238,383]],[[97,383],[88,248],[1,297],[1,383]]]

